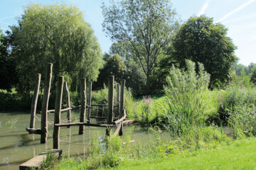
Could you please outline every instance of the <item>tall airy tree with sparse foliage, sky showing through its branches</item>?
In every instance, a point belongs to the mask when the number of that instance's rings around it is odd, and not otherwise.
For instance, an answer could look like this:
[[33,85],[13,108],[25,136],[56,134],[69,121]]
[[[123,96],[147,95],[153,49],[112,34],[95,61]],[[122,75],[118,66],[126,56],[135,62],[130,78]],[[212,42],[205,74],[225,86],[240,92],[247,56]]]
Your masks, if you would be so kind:
[[169,0],[122,0],[102,6],[103,30],[114,42],[125,43],[146,75],[146,94],[154,69],[176,28]]

